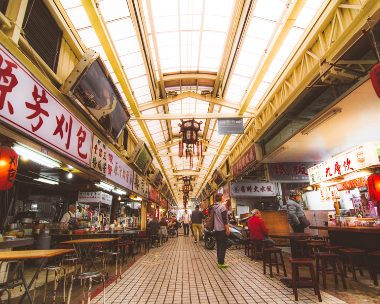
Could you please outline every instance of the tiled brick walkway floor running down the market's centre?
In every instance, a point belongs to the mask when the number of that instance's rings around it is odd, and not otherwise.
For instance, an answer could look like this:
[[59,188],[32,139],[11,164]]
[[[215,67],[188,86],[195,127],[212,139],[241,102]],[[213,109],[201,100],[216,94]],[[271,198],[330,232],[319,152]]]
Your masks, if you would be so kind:
[[[279,279],[263,274],[262,263],[251,262],[244,250],[228,249],[229,268],[219,269],[216,251],[206,250],[192,237],[169,242],[130,266],[117,283],[106,289],[108,304],[290,304],[319,303],[312,289],[299,289],[299,301]],[[275,271],[274,271],[275,272]],[[291,274],[288,274],[291,277]],[[321,291],[323,303],[346,303]],[[103,303],[102,293],[91,303]]]

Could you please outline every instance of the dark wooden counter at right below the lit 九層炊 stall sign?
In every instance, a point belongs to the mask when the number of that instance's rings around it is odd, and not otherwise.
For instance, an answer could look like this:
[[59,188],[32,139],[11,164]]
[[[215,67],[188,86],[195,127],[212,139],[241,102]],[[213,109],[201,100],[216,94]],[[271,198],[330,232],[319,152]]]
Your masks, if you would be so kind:
[[310,226],[310,228],[327,230],[331,245],[360,248],[367,252],[380,251],[380,228],[336,226]]

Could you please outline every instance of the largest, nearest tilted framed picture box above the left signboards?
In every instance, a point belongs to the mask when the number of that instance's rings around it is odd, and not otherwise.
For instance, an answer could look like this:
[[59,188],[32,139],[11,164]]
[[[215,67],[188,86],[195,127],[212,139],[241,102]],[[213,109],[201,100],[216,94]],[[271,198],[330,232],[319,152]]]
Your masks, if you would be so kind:
[[67,77],[61,91],[84,110],[114,141],[130,118],[98,52],[87,50]]

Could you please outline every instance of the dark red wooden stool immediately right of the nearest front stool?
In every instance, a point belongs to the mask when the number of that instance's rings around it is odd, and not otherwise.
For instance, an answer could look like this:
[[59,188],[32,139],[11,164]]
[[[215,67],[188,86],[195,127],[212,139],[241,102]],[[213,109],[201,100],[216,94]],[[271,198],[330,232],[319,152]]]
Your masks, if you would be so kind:
[[[339,247],[339,246],[338,246]],[[315,253],[315,263],[317,265],[317,282],[319,283],[319,273],[322,274],[323,279],[323,288],[327,289],[326,284],[326,274],[334,274],[335,284],[338,285],[338,275],[342,278],[343,288],[347,289],[347,285],[345,284],[343,269],[341,265],[340,255],[331,252],[316,252]],[[321,260],[322,270],[319,269],[319,260]],[[326,268],[327,261],[331,262],[332,269]],[[339,268],[339,272],[337,271],[337,266]],[[331,271],[332,270],[332,271]]]

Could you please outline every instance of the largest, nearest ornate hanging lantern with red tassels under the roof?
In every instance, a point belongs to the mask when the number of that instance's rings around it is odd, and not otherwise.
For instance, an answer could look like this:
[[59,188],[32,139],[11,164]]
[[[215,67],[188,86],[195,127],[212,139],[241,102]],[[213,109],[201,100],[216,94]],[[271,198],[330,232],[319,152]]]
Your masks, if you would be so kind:
[[[184,144],[186,144],[186,159],[188,156],[190,158],[190,168],[192,168],[192,155],[194,154],[195,146],[197,148],[196,156],[199,158],[199,155],[202,157],[202,139],[198,140],[198,132],[200,131],[200,125],[203,122],[197,122],[194,118],[190,120],[181,119],[181,123],[178,124],[181,128],[180,133],[182,133],[183,137],[180,138],[179,141],[179,152],[178,156],[181,158],[184,156]],[[200,149],[200,152],[199,152]]]

